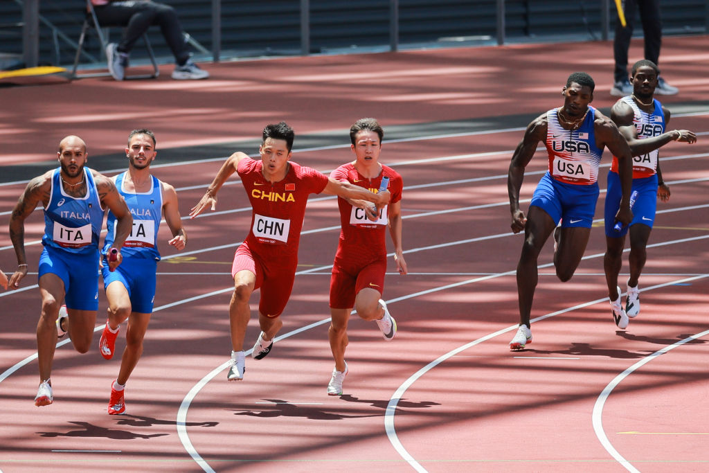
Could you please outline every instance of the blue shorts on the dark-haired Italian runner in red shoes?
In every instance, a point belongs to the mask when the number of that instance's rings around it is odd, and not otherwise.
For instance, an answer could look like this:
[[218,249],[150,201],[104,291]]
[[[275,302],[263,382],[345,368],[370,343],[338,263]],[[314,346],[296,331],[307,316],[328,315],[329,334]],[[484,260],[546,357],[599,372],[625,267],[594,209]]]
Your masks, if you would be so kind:
[[130,306],[133,312],[152,313],[152,304],[155,302],[155,284],[157,260],[153,258],[124,257],[116,271],[108,271],[108,260],[104,256],[104,289],[113,281],[123,284],[130,297]]

